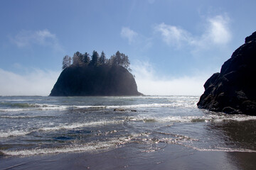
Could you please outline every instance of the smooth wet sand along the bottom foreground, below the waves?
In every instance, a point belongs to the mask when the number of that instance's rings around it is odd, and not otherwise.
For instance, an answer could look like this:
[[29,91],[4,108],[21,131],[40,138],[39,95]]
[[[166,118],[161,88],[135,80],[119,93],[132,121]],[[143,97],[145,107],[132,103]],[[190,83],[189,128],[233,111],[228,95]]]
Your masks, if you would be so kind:
[[[129,145],[99,153],[1,157],[0,169],[254,169],[256,153],[198,151],[180,145],[158,150]],[[147,148],[147,149],[146,149]]]

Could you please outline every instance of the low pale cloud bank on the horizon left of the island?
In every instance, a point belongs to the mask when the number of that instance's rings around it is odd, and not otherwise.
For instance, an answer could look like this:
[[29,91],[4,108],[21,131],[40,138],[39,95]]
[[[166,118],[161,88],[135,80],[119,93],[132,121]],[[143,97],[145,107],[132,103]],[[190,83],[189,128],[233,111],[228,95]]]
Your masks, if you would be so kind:
[[0,69],[1,96],[48,96],[60,72],[31,69],[26,74],[16,74]]

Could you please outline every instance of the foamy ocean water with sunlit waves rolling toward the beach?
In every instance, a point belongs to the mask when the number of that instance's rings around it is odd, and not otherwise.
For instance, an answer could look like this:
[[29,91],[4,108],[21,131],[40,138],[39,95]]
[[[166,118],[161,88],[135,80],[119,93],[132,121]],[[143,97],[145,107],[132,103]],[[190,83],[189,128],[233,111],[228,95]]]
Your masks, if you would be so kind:
[[198,109],[198,100],[1,96],[0,159],[99,153],[127,146],[140,153],[161,151],[167,145],[202,152],[256,152],[255,116]]

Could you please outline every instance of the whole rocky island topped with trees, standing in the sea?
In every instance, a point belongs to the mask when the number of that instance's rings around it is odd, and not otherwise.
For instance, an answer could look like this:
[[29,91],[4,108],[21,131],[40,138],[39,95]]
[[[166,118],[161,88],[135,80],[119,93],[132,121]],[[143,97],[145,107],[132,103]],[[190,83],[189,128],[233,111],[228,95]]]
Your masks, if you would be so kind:
[[63,72],[53,86],[50,96],[139,96],[134,76],[128,71],[127,55],[117,52],[106,59],[92,52],[76,52],[63,58]]

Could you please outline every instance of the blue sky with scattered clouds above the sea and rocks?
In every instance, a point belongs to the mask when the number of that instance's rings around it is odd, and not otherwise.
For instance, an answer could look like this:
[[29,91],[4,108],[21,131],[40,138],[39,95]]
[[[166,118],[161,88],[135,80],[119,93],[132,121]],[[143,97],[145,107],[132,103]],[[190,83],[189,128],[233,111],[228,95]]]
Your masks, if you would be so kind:
[[50,94],[62,59],[117,50],[144,94],[201,95],[256,30],[256,1],[0,1],[0,95]]

